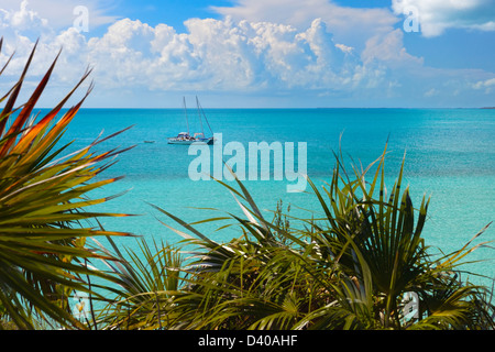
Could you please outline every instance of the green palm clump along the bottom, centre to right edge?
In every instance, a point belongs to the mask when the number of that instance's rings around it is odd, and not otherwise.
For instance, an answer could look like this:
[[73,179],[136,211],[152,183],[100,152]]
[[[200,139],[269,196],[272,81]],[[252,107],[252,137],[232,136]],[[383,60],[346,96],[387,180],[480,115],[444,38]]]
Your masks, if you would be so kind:
[[114,268],[130,284],[106,311],[108,328],[493,329],[490,292],[458,278],[460,261],[477,245],[433,260],[421,238],[429,200],[415,209],[408,188],[402,191],[404,162],[387,195],[385,154],[370,182],[374,165],[351,177],[341,155],[322,190],[308,180],[320,218],[296,219],[278,207],[268,221],[242,183],[239,190],[224,184],[245,217],[198,223],[233,220],[242,235],[229,243],[155,207],[183,227],[166,224],[184,248],[152,255],[143,243],[147,266],[131,253],[135,265]]

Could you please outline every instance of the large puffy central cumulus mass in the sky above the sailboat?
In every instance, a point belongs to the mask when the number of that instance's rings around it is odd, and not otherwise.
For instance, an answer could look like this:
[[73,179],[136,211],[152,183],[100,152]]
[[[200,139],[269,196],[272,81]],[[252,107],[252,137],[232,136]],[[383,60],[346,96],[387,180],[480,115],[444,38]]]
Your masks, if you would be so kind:
[[87,55],[109,86],[152,89],[321,89],[353,74],[349,48],[321,20],[306,31],[272,22],[191,19],[188,33],[129,19],[89,40]]

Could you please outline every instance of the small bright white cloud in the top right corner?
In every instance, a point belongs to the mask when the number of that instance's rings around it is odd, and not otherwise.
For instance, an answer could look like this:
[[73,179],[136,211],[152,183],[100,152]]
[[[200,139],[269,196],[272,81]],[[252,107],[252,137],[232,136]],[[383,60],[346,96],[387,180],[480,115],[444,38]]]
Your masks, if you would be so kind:
[[396,14],[416,11],[425,36],[448,29],[495,31],[494,0],[393,0],[392,8]]

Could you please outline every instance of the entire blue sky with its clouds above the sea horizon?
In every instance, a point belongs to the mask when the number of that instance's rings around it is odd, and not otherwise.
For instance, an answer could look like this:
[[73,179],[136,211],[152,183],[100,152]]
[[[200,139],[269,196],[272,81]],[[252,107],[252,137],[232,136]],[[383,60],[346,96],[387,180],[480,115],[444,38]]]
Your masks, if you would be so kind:
[[2,90],[63,47],[46,106],[88,66],[86,107],[495,106],[495,0],[2,0],[0,33]]

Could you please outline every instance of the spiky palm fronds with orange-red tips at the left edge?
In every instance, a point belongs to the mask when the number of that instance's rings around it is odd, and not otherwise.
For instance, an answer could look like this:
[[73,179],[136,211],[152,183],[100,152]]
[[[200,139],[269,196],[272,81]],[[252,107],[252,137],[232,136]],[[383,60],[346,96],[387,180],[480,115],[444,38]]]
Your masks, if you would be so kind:
[[[0,40],[0,51],[2,40]],[[65,328],[86,328],[72,315],[69,297],[75,290],[90,292],[90,276],[116,280],[88,265],[101,255],[85,246],[97,235],[123,235],[84,226],[97,217],[118,216],[82,211],[107,200],[86,195],[116,179],[98,179],[106,160],[121,151],[92,153],[102,142],[63,155],[69,144],[57,143],[82,101],[64,105],[87,79],[89,72],[62,101],[44,117],[34,116],[34,107],[46,87],[54,59],[28,102],[16,99],[35,53],[15,85],[0,98],[0,317],[16,328],[33,329],[36,322]],[[58,57],[58,56],[57,56]],[[0,76],[12,56],[0,69]],[[58,118],[63,114],[61,118]]]

